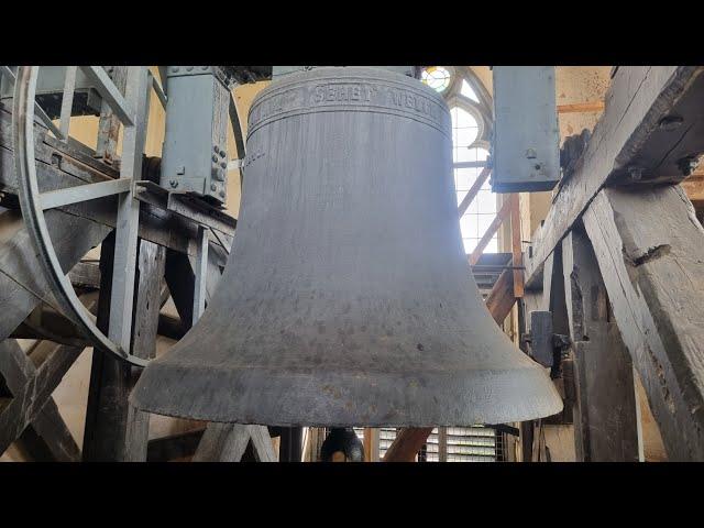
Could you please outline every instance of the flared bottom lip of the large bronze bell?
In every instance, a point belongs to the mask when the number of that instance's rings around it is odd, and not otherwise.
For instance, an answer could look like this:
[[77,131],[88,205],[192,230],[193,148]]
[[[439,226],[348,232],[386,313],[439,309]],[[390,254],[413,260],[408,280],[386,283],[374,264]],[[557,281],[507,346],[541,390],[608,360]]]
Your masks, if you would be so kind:
[[[543,418],[563,408],[557,388],[537,363],[459,375],[447,371],[418,373],[424,386],[407,391],[399,391],[398,384],[408,385],[414,380],[409,373],[375,373],[372,378],[359,373],[328,374],[194,369],[155,362],[143,372],[130,403],[164,416],[270,427],[464,427]],[[156,384],[160,378],[162,383]],[[190,384],[187,392],[186,383]],[[238,385],[243,388],[233,391]],[[338,393],[345,393],[343,397],[336,396],[336,387],[345,387],[338,388]],[[388,392],[393,397],[380,404],[380,409],[362,408],[364,402],[382,402]],[[243,397],[237,398],[238,394]],[[422,409],[421,402],[432,404]]]

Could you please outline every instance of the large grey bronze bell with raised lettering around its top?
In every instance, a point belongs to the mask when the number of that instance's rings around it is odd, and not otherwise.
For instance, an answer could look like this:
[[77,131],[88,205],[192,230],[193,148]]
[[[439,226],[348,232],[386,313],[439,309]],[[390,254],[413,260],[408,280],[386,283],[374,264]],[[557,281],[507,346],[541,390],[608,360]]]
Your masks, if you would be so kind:
[[132,403],[268,426],[463,426],[559,413],[472,279],[442,98],[374,68],[275,80],[249,116],[237,234],[198,323]]

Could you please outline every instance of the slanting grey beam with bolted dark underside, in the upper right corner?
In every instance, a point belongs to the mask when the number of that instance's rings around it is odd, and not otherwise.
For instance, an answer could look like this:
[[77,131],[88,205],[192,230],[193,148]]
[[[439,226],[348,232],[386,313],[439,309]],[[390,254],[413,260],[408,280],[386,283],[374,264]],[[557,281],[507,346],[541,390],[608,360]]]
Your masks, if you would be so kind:
[[[704,152],[702,72],[701,66],[618,68],[604,114],[574,174],[561,182],[543,227],[534,233],[532,256],[526,258],[527,285],[604,186],[628,178],[631,167],[644,170],[644,183],[684,177],[678,161]],[[680,114],[682,109],[691,111]],[[661,125],[675,113],[684,119],[681,127]]]

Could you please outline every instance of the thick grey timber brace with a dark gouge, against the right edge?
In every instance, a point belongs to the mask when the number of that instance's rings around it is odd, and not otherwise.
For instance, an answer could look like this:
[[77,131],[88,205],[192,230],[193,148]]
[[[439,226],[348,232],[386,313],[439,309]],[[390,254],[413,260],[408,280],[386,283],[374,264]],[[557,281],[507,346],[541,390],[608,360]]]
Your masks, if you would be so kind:
[[603,189],[583,217],[672,461],[704,461],[704,229],[681,186]]

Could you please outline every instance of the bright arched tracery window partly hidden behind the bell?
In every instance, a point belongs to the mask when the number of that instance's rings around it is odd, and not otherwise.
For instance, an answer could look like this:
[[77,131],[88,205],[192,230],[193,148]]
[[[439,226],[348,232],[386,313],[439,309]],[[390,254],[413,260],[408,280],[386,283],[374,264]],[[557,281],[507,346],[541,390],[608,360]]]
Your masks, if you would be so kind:
[[[486,165],[493,128],[492,98],[469,66],[429,66],[422,72],[421,80],[441,94],[450,107],[454,186],[459,205]],[[460,218],[468,254],[474,251],[494,221],[496,211],[496,196],[492,194],[487,179]],[[484,252],[498,252],[496,234]]]

